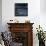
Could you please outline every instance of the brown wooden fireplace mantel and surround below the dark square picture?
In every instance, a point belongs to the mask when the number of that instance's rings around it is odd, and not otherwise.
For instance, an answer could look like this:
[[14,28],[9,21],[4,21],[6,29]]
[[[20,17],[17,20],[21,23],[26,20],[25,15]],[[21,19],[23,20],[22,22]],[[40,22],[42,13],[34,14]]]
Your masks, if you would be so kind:
[[33,46],[33,23],[7,23],[12,39],[23,43],[22,46]]

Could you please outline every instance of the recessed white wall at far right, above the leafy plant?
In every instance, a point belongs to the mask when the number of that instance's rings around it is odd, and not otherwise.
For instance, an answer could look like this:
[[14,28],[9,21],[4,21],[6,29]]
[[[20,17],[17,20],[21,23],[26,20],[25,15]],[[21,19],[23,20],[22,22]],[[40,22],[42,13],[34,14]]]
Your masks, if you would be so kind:
[[40,0],[40,24],[46,31],[46,0]]

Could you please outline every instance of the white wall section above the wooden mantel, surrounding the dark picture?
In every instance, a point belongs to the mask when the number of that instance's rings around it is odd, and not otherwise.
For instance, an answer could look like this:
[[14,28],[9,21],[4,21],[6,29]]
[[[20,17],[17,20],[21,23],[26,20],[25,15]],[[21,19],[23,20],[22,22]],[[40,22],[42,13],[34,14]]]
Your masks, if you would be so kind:
[[[6,23],[10,19],[17,19],[21,20],[20,22],[24,22],[27,17],[15,17],[14,16],[14,4],[17,2],[27,2],[28,3],[28,19],[33,22],[38,24],[39,23],[39,14],[40,14],[40,0],[3,0],[2,1],[2,24],[3,26],[6,25]],[[38,20],[38,21],[37,21]],[[4,27],[6,30],[6,28]],[[3,31],[5,31],[3,30]]]

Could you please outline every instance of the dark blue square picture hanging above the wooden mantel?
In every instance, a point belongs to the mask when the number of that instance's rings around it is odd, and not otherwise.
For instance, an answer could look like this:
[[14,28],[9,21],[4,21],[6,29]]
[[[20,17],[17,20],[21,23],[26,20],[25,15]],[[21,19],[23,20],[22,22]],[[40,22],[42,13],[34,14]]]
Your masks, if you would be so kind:
[[28,3],[15,3],[15,16],[28,16]]

